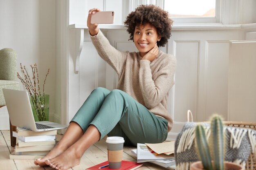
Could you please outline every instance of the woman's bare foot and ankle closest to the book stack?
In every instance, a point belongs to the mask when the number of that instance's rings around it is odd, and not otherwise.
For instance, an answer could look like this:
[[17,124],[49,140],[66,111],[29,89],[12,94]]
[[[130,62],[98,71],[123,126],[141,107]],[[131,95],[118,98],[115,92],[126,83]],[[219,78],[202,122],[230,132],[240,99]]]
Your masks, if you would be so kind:
[[55,146],[45,157],[36,159],[34,164],[39,166],[47,166],[45,163],[47,159],[55,158],[64,151],[65,149],[61,149],[61,147]]

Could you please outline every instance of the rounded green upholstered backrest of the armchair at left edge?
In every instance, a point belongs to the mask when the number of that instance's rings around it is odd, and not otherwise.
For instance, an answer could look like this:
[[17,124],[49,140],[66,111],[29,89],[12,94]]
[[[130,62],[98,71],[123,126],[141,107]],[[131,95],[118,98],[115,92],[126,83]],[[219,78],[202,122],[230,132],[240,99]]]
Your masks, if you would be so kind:
[[17,53],[13,49],[0,50],[0,80],[17,81]]

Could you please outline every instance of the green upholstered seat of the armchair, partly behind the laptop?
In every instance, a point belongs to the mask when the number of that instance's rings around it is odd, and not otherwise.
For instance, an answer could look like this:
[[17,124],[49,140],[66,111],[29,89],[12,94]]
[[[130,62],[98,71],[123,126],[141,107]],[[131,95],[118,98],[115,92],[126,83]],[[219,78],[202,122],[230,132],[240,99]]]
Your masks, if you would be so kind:
[[3,95],[3,88],[13,89],[13,90],[20,90],[20,83],[11,80],[0,80],[0,106],[5,105],[4,95]]

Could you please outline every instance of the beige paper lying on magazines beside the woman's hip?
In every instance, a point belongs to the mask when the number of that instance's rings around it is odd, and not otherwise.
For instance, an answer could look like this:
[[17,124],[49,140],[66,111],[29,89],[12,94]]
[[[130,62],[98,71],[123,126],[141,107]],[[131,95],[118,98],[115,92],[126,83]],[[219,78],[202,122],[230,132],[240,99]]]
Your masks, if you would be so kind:
[[146,144],[146,146],[148,146],[157,154],[164,153],[166,155],[171,155],[174,153],[174,143],[175,141],[168,141],[159,144]]

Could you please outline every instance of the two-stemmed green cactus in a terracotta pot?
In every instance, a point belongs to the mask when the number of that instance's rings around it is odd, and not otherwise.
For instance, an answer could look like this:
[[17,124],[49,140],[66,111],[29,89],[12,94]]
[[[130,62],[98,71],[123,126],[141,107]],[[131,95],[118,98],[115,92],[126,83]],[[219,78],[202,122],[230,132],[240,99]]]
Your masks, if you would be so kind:
[[209,142],[204,127],[201,124],[195,127],[195,143],[201,161],[192,163],[191,170],[243,170],[237,163],[224,161],[225,136],[219,115],[213,115],[211,118]]

